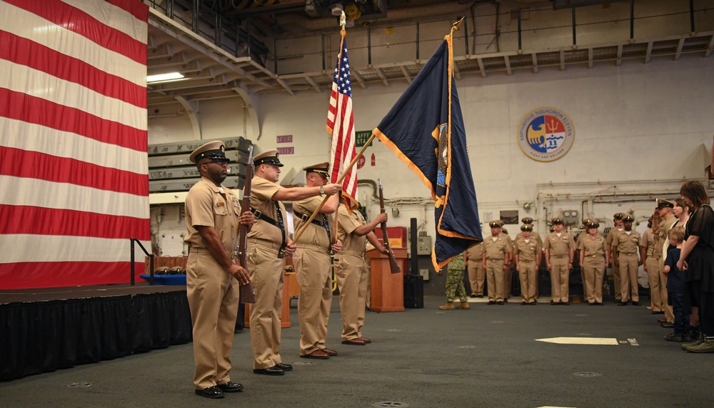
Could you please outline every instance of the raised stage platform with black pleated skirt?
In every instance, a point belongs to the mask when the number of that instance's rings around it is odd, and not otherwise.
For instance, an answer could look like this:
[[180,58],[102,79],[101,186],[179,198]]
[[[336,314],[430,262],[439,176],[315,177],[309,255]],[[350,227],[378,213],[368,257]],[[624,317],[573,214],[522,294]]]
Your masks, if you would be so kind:
[[0,291],[0,381],[187,342],[185,286]]

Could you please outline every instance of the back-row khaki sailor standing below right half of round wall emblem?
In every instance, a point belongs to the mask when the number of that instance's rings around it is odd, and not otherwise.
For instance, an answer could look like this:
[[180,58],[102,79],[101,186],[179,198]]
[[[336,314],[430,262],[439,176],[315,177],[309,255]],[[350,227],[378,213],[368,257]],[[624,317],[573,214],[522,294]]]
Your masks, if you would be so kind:
[[575,242],[563,232],[563,220],[554,218],[553,232],[545,237],[545,265],[550,271],[550,304],[570,304],[570,269],[573,268]]

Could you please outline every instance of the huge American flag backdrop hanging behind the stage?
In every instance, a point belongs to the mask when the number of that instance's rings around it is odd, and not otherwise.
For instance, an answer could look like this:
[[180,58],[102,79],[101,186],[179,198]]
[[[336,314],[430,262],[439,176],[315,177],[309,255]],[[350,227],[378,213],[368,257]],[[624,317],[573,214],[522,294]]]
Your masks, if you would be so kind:
[[0,0],[0,289],[129,282],[150,248],[148,14]]

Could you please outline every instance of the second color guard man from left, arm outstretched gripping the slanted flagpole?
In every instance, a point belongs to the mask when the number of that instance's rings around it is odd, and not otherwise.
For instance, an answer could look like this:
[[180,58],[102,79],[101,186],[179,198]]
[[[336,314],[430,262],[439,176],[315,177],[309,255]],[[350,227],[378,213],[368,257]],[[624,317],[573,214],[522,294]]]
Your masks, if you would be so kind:
[[[281,200],[298,200],[320,196],[317,187],[285,188],[278,185],[283,166],[277,150],[264,151],[253,158],[255,175],[251,184],[251,212],[255,224],[248,233],[248,270],[256,303],[251,305],[251,342],[253,344],[253,372],[281,375],[291,371],[280,355],[281,321],[283,308],[283,272],[285,256],[295,252],[288,237],[285,206]],[[338,191],[339,186],[327,186],[326,192]]]

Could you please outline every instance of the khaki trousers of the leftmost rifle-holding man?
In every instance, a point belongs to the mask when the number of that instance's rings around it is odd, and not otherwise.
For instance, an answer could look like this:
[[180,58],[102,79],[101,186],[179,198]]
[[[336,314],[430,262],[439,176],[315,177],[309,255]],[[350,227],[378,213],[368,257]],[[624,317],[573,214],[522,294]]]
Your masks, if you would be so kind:
[[186,297],[193,323],[196,389],[231,381],[231,347],[238,316],[238,281],[208,249],[191,249],[186,262]]

